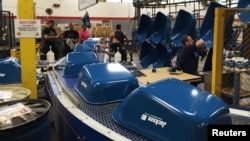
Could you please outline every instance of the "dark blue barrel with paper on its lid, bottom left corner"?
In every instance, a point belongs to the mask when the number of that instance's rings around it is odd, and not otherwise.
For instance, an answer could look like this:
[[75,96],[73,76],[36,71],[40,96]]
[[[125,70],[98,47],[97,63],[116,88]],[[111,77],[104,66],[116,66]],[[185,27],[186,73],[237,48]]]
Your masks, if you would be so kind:
[[[16,108],[16,105],[19,108]],[[6,110],[11,111],[13,107],[20,109],[22,106],[29,109],[30,112],[4,120],[3,113]],[[49,141],[49,109],[50,103],[42,99],[23,99],[0,103],[0,119],[2,119],[0,120],[0,140]],[[20,111],[25,112],[25,110],[23,108]]]

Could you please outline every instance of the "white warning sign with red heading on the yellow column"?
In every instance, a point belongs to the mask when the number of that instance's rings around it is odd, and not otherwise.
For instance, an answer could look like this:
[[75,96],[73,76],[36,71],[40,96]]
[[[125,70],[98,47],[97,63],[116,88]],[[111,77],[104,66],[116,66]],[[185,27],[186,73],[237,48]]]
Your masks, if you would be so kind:
[[41,21],[16,19],[15,36],[16,38],[41,38]]

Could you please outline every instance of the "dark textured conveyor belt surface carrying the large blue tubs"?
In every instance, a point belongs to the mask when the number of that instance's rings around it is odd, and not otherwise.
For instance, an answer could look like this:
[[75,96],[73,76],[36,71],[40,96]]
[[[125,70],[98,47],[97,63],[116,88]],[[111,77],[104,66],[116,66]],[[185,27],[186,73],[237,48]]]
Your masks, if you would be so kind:
[[[125,136],[126,138],[129,138],[133,141],[150,141],[150,139],[139,135],[129,129],[126,129],[117,123],[115,123],[111,117],[112,110],[119,105],[118,103],[111,103],[111,104],[105,104],[105,105],[91,105],[85,102],[85,100],[80,96],[74,89],[75,84],[77,83],[77,78],[66,78],[63,77],[63,71],[62,70],[56,70],[56,74],[59,77],[59,79],[62,81],[65,88],[67,88],[72,95],[75,96],[76,99],[78,99],[79,102],[79,108],[98,121],[99,123],[103,124],[107,128]],[[101,115],[101,116],[100,116]]]

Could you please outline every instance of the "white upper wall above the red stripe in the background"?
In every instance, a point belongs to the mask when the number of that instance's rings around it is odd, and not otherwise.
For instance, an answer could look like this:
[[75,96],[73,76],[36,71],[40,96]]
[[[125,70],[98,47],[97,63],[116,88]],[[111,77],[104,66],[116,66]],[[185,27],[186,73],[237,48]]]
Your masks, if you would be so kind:
[[[81,17],[84,15],[85,10],[78,10],[78,0],[34,0],[36,3],[36,16],[46,16],[45,9],[52,8],[52,16],[59,17]],[[61,6],[59,8],[54,8],[53,4],[59,3]],[[17,15],[17,0],[3,0],[3,10],[11,11],[14,15]],[[188,5],[186,7],[180,6],[178,9],[184,9],[193,13],[193,6]],[[112,17],[112,18],[133,18],[135,13],[135,8],[132,3],[106,3],[98,2],[98,4],[86,9],[90,17]],[[155,12],[161,11],[168,15],[169,7],[156,9]],[[175,7],[171,7],[170,11],[175,11]],[[152,9],[141,9],[141,14],[152,14]],[[201,13],[204,15],[205,11]]]

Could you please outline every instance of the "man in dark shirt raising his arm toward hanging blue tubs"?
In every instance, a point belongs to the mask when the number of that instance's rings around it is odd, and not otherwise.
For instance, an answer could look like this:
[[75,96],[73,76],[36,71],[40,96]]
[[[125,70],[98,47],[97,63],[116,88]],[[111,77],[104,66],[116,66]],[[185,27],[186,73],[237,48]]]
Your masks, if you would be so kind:
[[183,72],[189,74],[197,74],[199,56],[197,49],[204,46],[205,42],[200,39],[195,43],[191,36],[184,35],[181,38],[182,47],[177,53],[177,62]]

